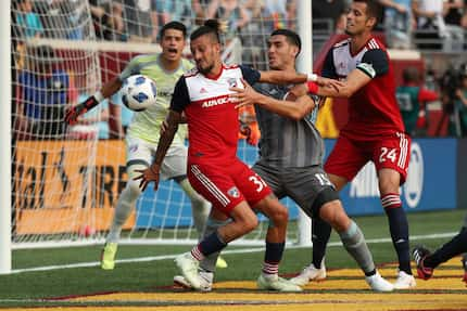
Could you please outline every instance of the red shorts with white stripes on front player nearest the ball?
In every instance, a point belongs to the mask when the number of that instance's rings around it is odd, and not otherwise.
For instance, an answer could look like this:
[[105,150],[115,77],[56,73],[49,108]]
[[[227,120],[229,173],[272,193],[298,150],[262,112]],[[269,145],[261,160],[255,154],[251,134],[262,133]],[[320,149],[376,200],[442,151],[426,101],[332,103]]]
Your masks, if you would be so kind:
[[226,215],[242,200],[254,207],[272,193],[266,182],[239,159],[224,166],[188,164],[188,180],[214,208]]

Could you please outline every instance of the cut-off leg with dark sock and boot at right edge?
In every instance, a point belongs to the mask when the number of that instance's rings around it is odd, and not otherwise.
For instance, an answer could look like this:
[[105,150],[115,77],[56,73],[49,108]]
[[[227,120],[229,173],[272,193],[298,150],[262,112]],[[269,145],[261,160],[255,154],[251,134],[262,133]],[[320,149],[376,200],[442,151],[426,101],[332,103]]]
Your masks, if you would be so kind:
[[[464,225],[459,233],[452,239],[443,244],[434,252],[431,252],[424,246],[417,246],[413,250],[414,261],[417,263],[418,276],[422,280],[429,280],[433,276],[434,269],[441,263],[450,260],[451,258],[467,252],[467,215],[464,219]],[[467,285],[467,261],[463,257],[464,278]]]

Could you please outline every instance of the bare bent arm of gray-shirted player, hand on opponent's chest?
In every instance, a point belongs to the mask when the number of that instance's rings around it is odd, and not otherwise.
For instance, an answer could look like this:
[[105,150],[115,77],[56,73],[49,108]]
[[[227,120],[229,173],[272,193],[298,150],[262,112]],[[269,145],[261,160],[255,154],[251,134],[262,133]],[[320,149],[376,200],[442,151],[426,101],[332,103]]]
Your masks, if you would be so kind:
[[293,94],[287,93],[283,101],[280,101],[256,92],[244,80],[242,82],[243,89],[230,88],[230,90],[236,91],[235,94],[230,95],[238,103],[236,108],[256,104],[283,117],[300,120],[315,107],[315,102],[307,94],[295,98]]

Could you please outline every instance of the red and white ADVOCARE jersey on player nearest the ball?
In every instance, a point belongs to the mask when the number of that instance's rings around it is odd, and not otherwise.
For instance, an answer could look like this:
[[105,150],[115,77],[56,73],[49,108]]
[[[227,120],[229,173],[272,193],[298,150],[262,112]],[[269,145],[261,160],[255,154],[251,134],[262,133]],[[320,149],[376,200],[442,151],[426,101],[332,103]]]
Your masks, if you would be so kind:
[[217,77],[193,69],[178,80],[171,109],[187,116],[189,163],[228,164],[237,157],[239,118],[229,88],[242,86],[241,78],[253,85],[260,76],[250,67],[223,65]]

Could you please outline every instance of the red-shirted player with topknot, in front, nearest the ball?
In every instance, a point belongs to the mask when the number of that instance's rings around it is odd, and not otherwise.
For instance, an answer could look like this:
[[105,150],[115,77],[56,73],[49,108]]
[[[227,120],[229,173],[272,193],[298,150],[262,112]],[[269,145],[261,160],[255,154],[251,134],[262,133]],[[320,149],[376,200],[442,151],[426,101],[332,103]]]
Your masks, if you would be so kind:
[[207,21],[191,34],[190,39],[197,68],[182,76],[175,87],[167,129],[162,133],[154,163],[141,171],[141,186],[144,189],[151,181],[157,186],[161,163],[185,113],[189,130],[189,181],[212,203],[212,221],[225,223],[222,226],[207,224],[205,237],[190,252],[175,259],[182,276],[195,289],[211,289],[204,288],[206,282],[198,274],[199,262],[255,229],[255,211],[260,211],[274,225],[267,231],[266,254],[257,285],[263,289],[299,291],[299,286],[278,276],[288,210],[263,179],[237,158],[239,118],[236,103],[229,98],[234,91],[229,89],[241,86],[241,79],[250,83],[296,83],[304,82],[307,77],[285,72],[260,73],[244,66],[223,64],[216,21]]

